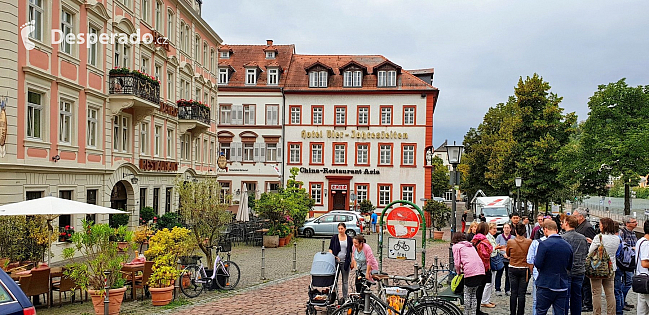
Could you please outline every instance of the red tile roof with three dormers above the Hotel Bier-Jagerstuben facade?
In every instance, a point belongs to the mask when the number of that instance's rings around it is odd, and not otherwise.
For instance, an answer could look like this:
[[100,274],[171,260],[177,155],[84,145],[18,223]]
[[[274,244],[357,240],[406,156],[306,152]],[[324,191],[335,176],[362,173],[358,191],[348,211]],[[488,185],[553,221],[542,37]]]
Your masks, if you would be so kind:
[[[367,69],[375,69],[376,67],[386,64],[393,65],[397,71],[401,71],[397,76],[396,87],[377,87],[377,77],[375,74],[368,74],[363,76],[363,86],[360,88],[343,87],[343,76],[340,69],[350,62],[357,63]],[[331,68],[333,75],[330,76],[327,88],[309,88],[309,75],[304,70],[308,70],[312,66],[320,63],[327,68]],[[304,69],[304,70],[303,70]],[[374,71],[373,71],[374,72]],[[429,83],[417,78],[409,73],[407,70],[402,70],[399,65],[394,64],[387,58],[381,55],[293,55],[291,61],[291,71],[288,71],[288,78],[284,84],[286,91],[423,91],[423,90],[437,90],[436,87]]]

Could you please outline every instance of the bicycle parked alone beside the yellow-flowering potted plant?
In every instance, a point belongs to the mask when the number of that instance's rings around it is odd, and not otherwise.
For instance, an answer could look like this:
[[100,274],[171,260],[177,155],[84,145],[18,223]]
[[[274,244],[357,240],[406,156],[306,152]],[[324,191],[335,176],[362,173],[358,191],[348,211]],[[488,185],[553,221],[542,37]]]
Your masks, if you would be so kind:
[[208,276],[200,256],[192,256],[196,263],[185,266],[180,273],[180,291],[189,298],[199,296],[204,288],[211,288],[215,283],[217,287],[223,290],[232,290],[241,277],[239,266],[229,260],[223,260],[219,252],[221,246],[209,246],[210,250],[216,248],[216,258],[214,259],[214,268],[212,275]]

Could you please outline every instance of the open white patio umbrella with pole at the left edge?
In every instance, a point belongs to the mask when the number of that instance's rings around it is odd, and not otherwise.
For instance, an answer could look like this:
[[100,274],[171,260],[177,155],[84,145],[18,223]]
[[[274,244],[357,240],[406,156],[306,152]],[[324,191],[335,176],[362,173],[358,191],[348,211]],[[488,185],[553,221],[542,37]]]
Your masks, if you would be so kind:
[[[0,215],[45,215],[48,225],[62,214],[128,214],[128,212],[92,205],[85,202],[47,196],[38,199],[20,201],[0,206]],[[49,247],[52,247],[50,231]],[[48,251],[47,263],[50,264],[51,254]]]

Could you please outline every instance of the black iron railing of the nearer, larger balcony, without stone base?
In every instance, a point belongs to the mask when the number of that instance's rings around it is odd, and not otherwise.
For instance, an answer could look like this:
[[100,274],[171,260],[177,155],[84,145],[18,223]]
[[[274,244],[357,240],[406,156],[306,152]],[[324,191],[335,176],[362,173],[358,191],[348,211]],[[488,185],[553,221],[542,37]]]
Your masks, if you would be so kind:
[[135,95],[154,104],[160,104],[160,84],[133,74],[112,74],[108,91],[111,95]]

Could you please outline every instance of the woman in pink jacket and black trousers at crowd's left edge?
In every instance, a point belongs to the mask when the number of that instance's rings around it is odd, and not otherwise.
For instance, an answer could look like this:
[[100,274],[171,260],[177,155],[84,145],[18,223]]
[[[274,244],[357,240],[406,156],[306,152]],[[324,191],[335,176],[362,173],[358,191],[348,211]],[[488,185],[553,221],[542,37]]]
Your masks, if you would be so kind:
[[464,315],[475,315],[478,307],[478,287],[483,283],[485,268],[473,244],[462,233],[453,235],[455,271],[464,273]]

